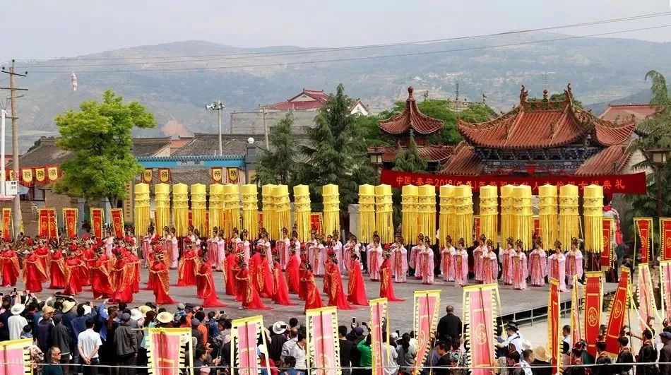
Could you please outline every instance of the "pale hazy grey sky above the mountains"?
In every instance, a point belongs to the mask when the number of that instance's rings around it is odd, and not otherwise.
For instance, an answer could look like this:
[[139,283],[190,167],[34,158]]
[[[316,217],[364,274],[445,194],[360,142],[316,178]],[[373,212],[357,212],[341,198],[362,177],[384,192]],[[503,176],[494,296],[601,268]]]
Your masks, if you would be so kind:
[[[178,40],[341,47],[671,11],[671,0],[22,0],[2,5],[1,61]],[[665,24],[671,24],[671,16],[560,32],[585,35]],[[665,42],[671,40],[671,27],[614,36]]]

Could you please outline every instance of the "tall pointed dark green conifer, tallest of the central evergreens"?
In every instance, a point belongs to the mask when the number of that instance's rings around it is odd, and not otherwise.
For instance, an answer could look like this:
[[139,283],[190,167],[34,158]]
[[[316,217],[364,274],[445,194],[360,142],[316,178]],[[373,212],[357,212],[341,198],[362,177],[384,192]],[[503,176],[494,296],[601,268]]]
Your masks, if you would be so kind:
[[340,215],[359,197],[359,185],[374,181],[375,170],[366,152],[362,131],[350,114],[352,99],[341,83],[335,95],[319,109],[316,127],[309,129],[309,141],[302,148],[307,157],[299,181],[310,186],[314,210],[321,210],[321,186],[336,184],[340,189]]

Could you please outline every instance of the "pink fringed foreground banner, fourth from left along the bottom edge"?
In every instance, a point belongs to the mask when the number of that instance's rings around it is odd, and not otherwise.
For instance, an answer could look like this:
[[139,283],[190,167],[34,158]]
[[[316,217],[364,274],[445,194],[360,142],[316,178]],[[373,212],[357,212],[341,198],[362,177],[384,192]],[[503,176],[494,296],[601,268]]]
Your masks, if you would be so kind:
[[335,306],[305,311],[307,319],[307,368],[315,375],[340,374],[338,315]]

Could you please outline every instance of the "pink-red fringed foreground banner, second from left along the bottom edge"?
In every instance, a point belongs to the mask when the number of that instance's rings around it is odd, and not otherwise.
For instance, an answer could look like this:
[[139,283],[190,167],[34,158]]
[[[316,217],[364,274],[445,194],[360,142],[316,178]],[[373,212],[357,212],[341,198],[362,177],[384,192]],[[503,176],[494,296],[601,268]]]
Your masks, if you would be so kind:
[[[191,355],[191,330],[189,328],[148,328],[146,333],[147,357],[150,374],[174,375],[184,369],[186,355]],[[189,353],[186,347],[189,347]],[[191,364],[193,361],[189,361]],[[193,364],[189,367],[193,374]]]

